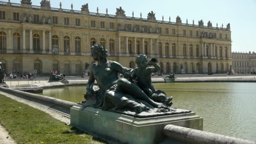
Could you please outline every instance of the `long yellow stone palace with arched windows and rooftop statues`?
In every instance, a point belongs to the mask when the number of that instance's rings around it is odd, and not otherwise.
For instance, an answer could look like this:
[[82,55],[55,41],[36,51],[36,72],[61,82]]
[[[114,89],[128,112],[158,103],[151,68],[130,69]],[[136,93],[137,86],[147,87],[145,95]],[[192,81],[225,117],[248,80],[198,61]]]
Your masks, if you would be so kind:
[[[51,8],[47,0],[40,6],[31,0],[21,4],[0,2],[0,61],[7,73],[13,71],[48,75],[57,70],[80,75],[91,64],[91,45],[104,45],[108,59],[125,67],[136,67],[135,57],[144,53],[156,57],[163,74],[227,72],[232,68],[230,25],[207,26],[203,20],[188,24],[158,21],[155,13],[147,19],[126,16],[117,8],[115,15]],[[90,67],[90,66],[89,66]]]

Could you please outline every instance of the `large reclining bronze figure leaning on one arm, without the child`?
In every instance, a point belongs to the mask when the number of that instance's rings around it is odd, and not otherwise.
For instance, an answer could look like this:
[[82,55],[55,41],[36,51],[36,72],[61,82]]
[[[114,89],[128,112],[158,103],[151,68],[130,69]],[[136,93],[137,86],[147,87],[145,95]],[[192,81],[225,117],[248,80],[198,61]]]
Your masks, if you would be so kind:
[[[93,45],[91,51],[93,60],[97,62],[92,64],[86,95],[96,98],[93,107],[103,110],[128,108],[140,113],[148,109],[144,103],[140,102],[142,100],[155,108],[168,109],[163,103],[150,99],[135,83],[125,78],[119,78],[118,73],[123,74],[124,77],[130,77],[128,75],[131,75],[132,69],[123,67],[116,61],[108,61],[106,48],[101,45]],[[93,90],[95,89],[93,88],[95,80],[99,86],[97,91]]]

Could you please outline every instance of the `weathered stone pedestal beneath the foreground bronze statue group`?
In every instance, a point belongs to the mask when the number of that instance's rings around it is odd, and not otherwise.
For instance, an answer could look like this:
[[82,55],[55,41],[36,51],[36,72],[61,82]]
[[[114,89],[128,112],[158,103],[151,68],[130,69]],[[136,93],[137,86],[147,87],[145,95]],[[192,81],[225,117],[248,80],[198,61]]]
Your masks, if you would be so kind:
[[133,117],[76,104],[70,109],[70,123],[110,143],[156,144],[163,141],[168,124],[203,130],[203,118],[195,112],[156,117]]

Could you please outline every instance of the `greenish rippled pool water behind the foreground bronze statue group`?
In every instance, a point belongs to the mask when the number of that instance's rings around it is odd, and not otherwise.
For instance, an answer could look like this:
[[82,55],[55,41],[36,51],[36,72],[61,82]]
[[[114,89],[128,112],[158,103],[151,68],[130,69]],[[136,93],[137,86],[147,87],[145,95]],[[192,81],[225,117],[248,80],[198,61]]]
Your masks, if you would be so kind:
[[[256,141],[256,83],[155,83],[172,107],[189,109],[203,117],[203,130]],[[83,101],[84,86],[44,89],[44,96]]]

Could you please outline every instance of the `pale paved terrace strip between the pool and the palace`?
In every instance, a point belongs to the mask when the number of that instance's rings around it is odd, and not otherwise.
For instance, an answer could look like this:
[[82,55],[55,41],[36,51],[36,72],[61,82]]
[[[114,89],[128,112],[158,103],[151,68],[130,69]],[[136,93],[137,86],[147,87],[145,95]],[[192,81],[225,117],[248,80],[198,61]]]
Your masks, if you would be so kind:
[[[164,83],[163,77],[164,76],[153,76],[152,82],[153,83]],[[217,75],[175,75],[176,76],[176,83],[181,82],[256,82],[256,75],[244,75],[244,74],[237,74],[237,75],[227,75],[227,74],[217,74]],[[88,82],[89,77],[80,77],[80,76],[67,76],[65,77],[70,85],[76,84],[85,84]],[[11,79],[8,77],[5,79],[6,84],[11,87],[15,85],[28,85],[34,83],[47,83],[49,77],[36,77],[33,79],[21,79],[20,77]]]

